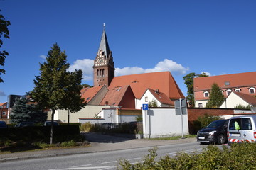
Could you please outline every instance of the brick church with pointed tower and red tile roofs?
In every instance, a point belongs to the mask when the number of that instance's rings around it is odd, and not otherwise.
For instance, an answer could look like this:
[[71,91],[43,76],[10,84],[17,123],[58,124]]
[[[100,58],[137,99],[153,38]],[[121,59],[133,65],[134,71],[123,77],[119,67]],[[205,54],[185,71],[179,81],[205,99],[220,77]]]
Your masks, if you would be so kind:
[[114,70],[114,58],[104,27],[93,65],[93,87],[87,87],[81,91],[82,98],[85,98],[87,105],[140,109],[141,103],[149,103],[154,99],[160,107],[174,107],[175,100],[184,98],[171,72],[115,77]]

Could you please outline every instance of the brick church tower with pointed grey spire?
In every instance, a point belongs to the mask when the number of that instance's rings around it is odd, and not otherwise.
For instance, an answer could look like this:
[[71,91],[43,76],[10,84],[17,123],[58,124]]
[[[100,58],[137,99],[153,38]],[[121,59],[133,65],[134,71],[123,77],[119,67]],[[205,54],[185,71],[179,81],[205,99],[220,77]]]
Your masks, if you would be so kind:
[[97,51],[97,56],[95,57],[93,64],[93,86],[109,86],[113,78],[114,61],[107,42],[104,23],[100,47]]

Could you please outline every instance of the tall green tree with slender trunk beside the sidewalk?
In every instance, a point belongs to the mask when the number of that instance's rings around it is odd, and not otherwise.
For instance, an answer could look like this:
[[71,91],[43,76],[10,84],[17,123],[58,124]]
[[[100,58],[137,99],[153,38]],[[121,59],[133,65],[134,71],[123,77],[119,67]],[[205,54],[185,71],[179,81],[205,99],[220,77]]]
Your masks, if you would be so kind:
[[38,102],[42,108],[52,110],[51,144],[53,143],[55,110],[65,109],[76,112],[85,106],[84,100],[80,96],[82,71],[79,69],[75,72],[68,72],[69,67],[65,51],[61,52],[57,43],[54,44],[48,52],[46,62],[40,64],[40,76],[36,76],[35,87],[31,92],[33,100]]

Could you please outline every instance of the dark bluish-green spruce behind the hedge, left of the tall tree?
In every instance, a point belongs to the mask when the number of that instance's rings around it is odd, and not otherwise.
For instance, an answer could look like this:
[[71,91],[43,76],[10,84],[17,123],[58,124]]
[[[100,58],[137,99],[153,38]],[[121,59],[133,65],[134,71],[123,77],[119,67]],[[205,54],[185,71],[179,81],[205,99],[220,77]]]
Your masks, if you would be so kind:
[[11,123],[41,123],[46,121],[47,113],[43,112],[34,104],[28,104],[28,100],[26,98],[16,98],[14,108],[11,109],[10,118]]

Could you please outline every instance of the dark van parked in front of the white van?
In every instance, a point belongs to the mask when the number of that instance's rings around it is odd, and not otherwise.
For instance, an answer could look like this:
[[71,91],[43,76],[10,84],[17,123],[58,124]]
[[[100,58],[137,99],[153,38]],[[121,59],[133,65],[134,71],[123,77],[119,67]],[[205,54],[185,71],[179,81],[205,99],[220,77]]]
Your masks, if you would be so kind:
[[201,143],[225,144],[227,137],[228,119],[215,120],[206,128],[198,131],[196,138]]

